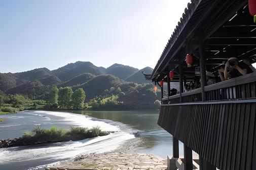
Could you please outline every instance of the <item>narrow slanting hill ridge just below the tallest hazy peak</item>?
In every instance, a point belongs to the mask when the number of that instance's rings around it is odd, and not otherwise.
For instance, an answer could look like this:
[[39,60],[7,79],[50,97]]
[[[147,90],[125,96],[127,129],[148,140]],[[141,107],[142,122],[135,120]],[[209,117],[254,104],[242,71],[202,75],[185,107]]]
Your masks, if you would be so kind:
[[93,77],[95,77],[95,75],[93,75],[91,73],[83,73],[83,74],[80,74],[68,81],[65,81],[65,82],[59,84],[57,87],[79,86],[79,84],[83,84],[83,83],[87,82],[88,80],[92,79]]

